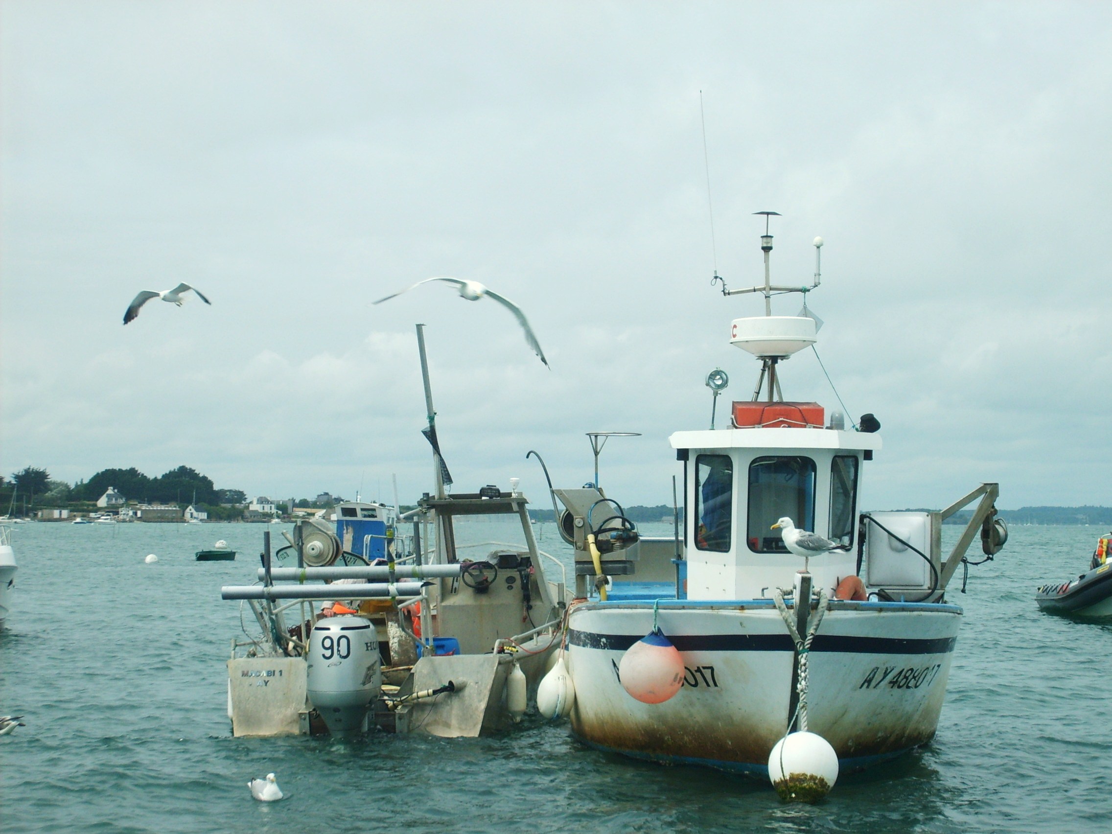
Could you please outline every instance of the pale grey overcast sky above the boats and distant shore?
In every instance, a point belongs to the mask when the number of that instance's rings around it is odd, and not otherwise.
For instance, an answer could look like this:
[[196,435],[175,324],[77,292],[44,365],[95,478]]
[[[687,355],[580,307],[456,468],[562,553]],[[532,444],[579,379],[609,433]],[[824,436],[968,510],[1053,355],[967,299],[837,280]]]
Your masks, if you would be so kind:
[[[824,281],[818,350],[885,448],[868,507],[1112,504],[1112,7],[0,6],[0,470],[429,488],[414,322],[457,488],[671,500],[673,430],[753,298]],[[415,280],[480,280],[529,316]],[[150,302],[195,284],[212,301]],[[775,311],[795,314],[797,297]],[[837,408],[817,363],[790,399]]]

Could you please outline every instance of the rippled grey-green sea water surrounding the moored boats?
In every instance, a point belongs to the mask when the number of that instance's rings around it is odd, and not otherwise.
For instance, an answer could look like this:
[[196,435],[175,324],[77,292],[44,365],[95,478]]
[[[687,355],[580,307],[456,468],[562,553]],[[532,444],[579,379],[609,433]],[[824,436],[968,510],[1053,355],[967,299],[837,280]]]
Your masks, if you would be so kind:
[[[284,528],[269,527],[279,542]],[[600,753],[536,716],[489,738],[234,738],[225,661],[244,631],[220,586],[254,582],[262,529],[14,528],[0,714],[27,726],[0,737],[0,831],[1112,830],[1112,626],[1041,614],[1033,599],[1083,572],[1103,529],[1015,527],[971,569],[966,594],[959,572],[947,596],[965,616],[937,736],[843,775],[816,806],[782,805],[752,777]],[[536,529],[566,563],[555,527]],[[952,543],[957,528],[945,533]],[[236,562],[193,559],[220,538]],[[463,525],[460,538],[522,540],[494,522]],[[248,780],[270,772],[288,798],[254,801]]]

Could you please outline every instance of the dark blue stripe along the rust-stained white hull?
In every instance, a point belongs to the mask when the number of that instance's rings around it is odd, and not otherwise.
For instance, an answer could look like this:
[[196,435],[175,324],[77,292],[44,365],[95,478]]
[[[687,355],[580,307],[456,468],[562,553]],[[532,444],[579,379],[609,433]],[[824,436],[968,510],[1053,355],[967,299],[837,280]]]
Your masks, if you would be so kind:
[[[639,641],[643,634],[595,634],[568,629],[573,646],[624,652]],[[795,644],[787,634],[677,634],[668,639],[681,652],[794,652]],[[902,637],[851,637],[847,635],[815,635],[812,652],[837,652],[866,655],[944,655],[954,651],[956,637],[933,639],[904,639]]]

